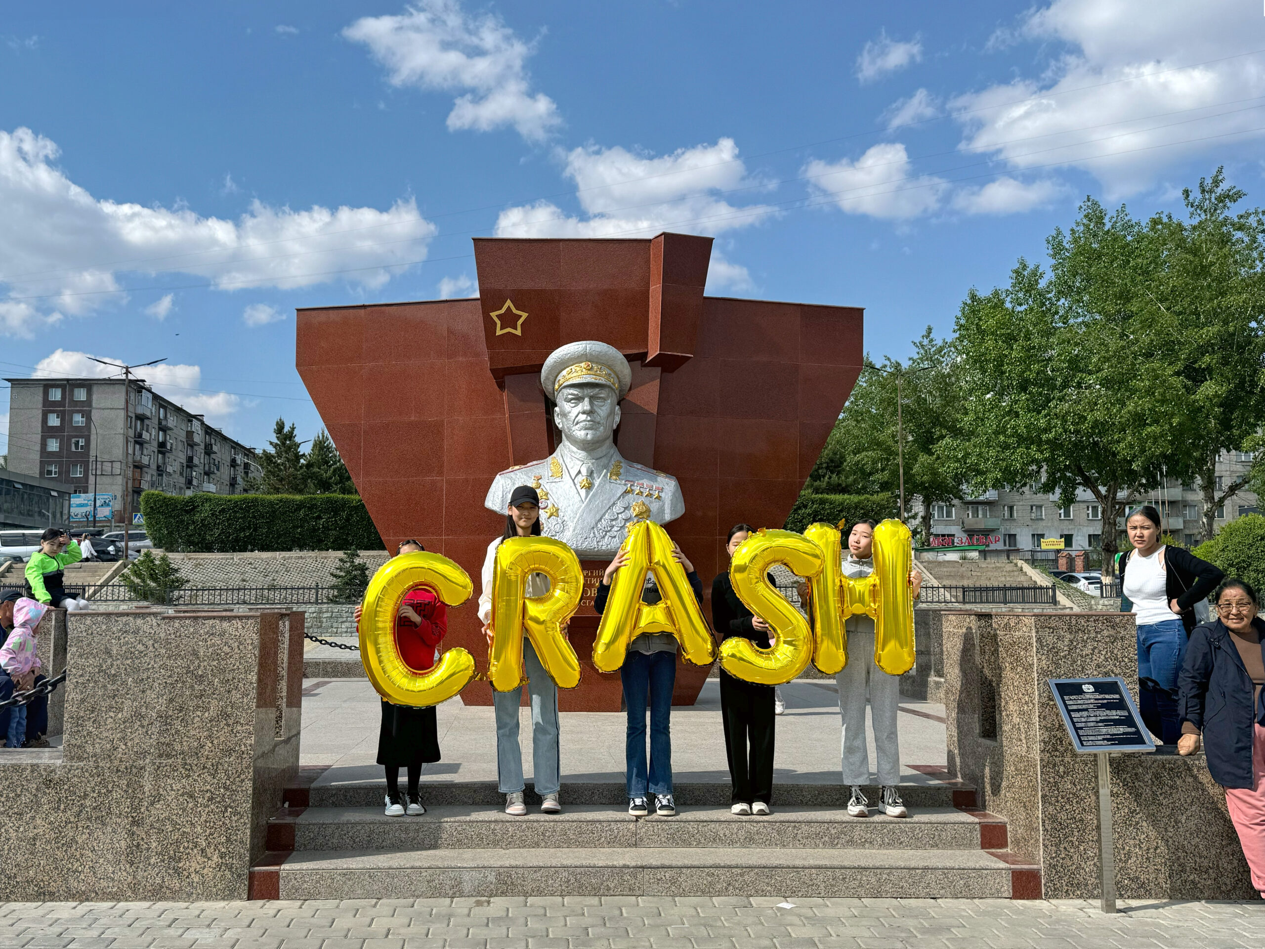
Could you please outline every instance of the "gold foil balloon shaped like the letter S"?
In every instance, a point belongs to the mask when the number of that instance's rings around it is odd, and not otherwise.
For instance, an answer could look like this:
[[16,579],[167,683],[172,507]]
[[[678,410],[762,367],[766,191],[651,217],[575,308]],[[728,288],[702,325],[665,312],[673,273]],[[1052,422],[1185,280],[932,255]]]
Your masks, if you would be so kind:
[[801,577],[812,577],[822,568],[821,548],[789,530],[759,530],[734,552],[729,564],[734,592],[769,624],[774,642],[762,649],[750,639],[731,636],[720,644],[720,664],[730,676],[762,686],[789,682],[812,659],[808,621],[767,578],[775,563],[784,563]]

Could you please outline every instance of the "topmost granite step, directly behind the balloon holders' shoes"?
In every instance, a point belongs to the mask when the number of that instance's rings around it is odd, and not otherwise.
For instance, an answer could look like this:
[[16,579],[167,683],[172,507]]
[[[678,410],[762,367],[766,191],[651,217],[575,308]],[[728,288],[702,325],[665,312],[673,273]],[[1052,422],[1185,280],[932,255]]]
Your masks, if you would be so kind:
[[[901,797],[908,807],[974,807],[975,790],[950,781],[927,783],[904,783],[899,786]],[[870,803],[875,803],[879,788],[864,788]],[[319,779],[310,787],[291,787],[285,792],[290,806],[299,807],[379,807],[382,806],[383,783],[381,776],[372,781],[352,781],[345,783],[321,783]],[[727,807],[731,787],[727,781],[716,782],[674,782],[673,792],[681,807]],[[845,785],[791,783],[779,782],[773,788],[773,806],[783,807],[834,807],[848,806],[851,791]],[[426,807],[434,806],[505,806],[505,795],[497,791],[495,781],[428,781],[421,776],[421,801]],[[526,791],[529,806],[539,805],[540,797]],[[605,805],[608,807],[627,807],[627,797],[622,782],[584,782],[565,781],[562,786],[564,807],[573,805]]]

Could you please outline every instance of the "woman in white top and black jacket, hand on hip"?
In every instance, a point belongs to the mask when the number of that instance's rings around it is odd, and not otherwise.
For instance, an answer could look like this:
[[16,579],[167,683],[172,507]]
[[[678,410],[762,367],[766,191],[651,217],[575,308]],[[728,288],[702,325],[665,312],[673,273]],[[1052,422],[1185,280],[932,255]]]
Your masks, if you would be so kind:
[[1176,744],[1178,672],[1187,638],[1195,628],[1195,605],[1208,599],[1225,574],[1189,550],[1160,543],[1160,512],[1136,507],[1125,521],[1133,549],[1121,558],[1121,591],[1137,624],[1137,683],[1142,721],[1163,744]]

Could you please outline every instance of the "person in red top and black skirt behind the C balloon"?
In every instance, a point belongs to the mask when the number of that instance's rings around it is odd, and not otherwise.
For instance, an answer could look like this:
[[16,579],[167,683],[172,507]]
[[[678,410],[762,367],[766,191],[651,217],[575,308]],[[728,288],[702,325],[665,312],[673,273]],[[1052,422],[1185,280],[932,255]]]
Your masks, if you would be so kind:
[[[416,540],[405,540],[396,548],[396,557],[426,548]],[[355,624],[361,623],[362,606],[355,607]],[[434,590],[415,587],[405,596],[396,615],[395,636],[400,658],[414,672],[434,667],[438,647],[448,633],[448,607]],[[378,729],[377,762],[386,769],[386,815],[415,817],[426,812],[421,805],[419,785],[421,766],[439,760],[439,725],[435,706],[414,707],[392,705],[382,700],[382,725]],[[407,796],[400,793],[400,768],[409,772]]]

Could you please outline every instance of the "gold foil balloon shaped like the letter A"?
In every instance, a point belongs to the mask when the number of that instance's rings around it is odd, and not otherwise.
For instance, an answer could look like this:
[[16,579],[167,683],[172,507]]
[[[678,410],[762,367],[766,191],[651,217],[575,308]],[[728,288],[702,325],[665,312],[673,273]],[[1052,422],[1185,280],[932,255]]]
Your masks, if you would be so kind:
[[[672,559],[672,539],[650,520],[629,528],[624,540],[627,563],[611,580],[611,595],[593,640],[593,666],[615,672],[624,664],[629,644],[641,633],[670,633],[681,643],[681,654],[694,666],[716,658],[707,620],[681,564]],[[643,604],[646,571],[654,574],[663,600]]]

